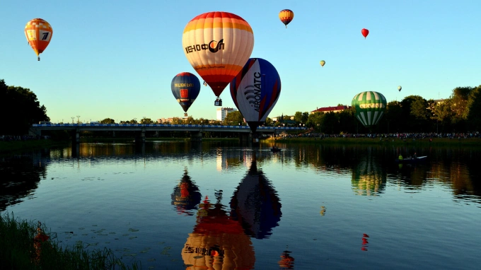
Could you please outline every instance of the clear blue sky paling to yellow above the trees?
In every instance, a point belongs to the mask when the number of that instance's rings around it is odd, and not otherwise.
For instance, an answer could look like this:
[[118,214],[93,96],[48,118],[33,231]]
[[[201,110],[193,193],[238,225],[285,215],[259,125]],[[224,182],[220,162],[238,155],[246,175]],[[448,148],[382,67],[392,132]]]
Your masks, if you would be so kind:
[[[294,11],[287,29],[278,17],[284,8]],[[429,100],[481,84],[481,1],[475,0],[2,0],[0,79],[30,88],[52,122],[76,115],[84,122],[183,117],[170,81],[182,71],[197,75],[182,31],[208,11],[247,20],[255,39],[251,57],[279,72],[282,91],[270,117],[350,105],[365,90],[388,101]],[[23,33],[33,18],[54,30],[41,61]],[[362,28],[370,31],[366,39]],[[221,98],[224,107],[235,107],[228,87]],[[215,119],[214,100],[202,86],[189,115]]]

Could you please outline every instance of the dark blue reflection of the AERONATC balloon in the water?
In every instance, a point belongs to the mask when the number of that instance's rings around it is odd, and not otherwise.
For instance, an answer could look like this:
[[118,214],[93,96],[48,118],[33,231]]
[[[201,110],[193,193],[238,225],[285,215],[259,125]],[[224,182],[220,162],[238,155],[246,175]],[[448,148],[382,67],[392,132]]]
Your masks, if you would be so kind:
[[271,182],[262,170],[257,170],[254,154],[250,170],[231,198],[231,216],[240,221],[247,235],[262,239],[279,225],[281,206]]

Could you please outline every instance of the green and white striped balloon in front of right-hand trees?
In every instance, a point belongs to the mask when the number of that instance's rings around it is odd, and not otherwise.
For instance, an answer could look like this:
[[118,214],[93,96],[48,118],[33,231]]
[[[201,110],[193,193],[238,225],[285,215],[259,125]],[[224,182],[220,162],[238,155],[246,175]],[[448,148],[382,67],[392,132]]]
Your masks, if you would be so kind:
[[386,98],[374,91],[359,93],[352,99],[352,107],[356,109],[356,118],[364,127],[372,127],[379,122],[386,111]]

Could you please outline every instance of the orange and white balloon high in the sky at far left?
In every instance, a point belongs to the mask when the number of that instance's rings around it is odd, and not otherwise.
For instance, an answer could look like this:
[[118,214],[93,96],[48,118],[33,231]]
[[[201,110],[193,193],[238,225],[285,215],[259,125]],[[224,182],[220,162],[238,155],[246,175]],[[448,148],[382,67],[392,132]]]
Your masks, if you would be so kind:
[[39,54],[47,48],[53,33],[52,26],[41,18],[30,20],[25,25],[25,37],[27,37],[28,44],[37,54],[38,61],[40,61]]

